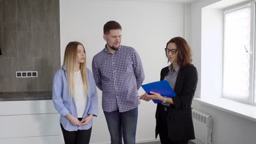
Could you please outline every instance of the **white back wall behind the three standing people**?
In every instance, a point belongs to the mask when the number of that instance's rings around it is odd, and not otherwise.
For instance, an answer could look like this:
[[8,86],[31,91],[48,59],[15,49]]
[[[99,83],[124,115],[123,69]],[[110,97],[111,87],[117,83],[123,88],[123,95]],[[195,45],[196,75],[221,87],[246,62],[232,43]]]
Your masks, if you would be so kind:
[[[106,44],[102,38],[103,25],[109,20],[123,27],[123,45],[135,47],[139,53],[146,79],[144,83],[160,79],[161,68],[167,65],[164,47],[168,40],[184,36],[184,5],[136,1],[60,1],[61,61],[69,41],[80,41],[87,53],[88,68],[92,57]],[[139,89],[142,94],[143,90]],[[101,107],[92,128],[91,143],[109,143],[110,136]],[[139,105],[137,141],[152,141],[155,134],[153,102]]]

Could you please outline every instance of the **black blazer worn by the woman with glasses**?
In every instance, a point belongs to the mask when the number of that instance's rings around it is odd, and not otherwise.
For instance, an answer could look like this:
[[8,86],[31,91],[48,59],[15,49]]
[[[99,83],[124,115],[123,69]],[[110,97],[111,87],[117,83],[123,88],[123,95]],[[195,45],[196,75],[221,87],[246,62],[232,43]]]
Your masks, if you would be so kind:
[[[168,74],[168,67],[161,70],[160,80],[164,80],[164,77]],[[171,109],[167,113],[167,129],[168,137],[171,141],[193,140],[195,139],[191,103],[195,94],[197,85],[197,70],[194,65],[187,65],[179,69],[179,73],[176,79],[174,92],[177,94],[173,97],[174,105],[171,105]],[[159,106],[156,107],[156,127],[155,138],[158,136],[161,129],[158,128],[160,122]]]

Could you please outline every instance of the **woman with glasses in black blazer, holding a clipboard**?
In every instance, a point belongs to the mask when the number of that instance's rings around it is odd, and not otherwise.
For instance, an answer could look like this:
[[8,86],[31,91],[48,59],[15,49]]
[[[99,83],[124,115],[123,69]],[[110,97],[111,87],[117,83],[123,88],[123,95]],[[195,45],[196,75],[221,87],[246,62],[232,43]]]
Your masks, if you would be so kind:
[[181,37],[172,38],[166,44],[166,57],[171,64],[162,68],[160,80],[167,80],[176,97],[166,98],[159,93],[144,93],[140,99],[161,100],[156,107],[155,138],[160,136],[161,143],[188,144],[195,139],[191,114],[191,103],[197,85],[197,70],[191,58],[187,41]]

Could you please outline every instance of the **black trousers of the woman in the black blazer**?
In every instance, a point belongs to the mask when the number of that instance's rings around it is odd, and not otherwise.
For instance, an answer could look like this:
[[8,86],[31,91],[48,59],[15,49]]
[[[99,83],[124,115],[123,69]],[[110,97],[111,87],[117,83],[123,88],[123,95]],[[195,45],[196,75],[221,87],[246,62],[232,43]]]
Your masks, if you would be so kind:
[[171,141],[168,137],[168,130],[167,130],[167,111],[170,109],[169,106],[160,106],[160,118],[161,122],[159,125],[159,137],[162,144],[188,144],[188,140],[184,141]]

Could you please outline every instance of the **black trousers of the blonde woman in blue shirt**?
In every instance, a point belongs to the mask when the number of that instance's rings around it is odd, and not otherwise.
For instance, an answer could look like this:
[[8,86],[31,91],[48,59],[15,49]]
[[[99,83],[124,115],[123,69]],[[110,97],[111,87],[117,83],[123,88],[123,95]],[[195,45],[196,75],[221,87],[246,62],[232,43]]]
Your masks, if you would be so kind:
[[[78,119],[79,121],[82,120],[82,118]],[[60,125],[65,144],[89,144],[92,128],[88,130],[67,131],[63,128],[62,124]]]

